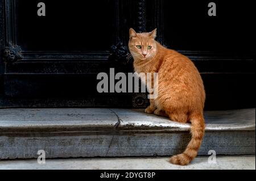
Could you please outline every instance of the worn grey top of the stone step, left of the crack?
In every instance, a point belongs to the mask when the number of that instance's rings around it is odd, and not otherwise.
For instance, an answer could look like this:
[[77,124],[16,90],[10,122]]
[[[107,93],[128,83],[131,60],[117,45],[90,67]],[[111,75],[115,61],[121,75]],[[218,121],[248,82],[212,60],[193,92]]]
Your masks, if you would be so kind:
[[114,127],[117,118],[109,109],[3,109],[0,129],[51,127]]

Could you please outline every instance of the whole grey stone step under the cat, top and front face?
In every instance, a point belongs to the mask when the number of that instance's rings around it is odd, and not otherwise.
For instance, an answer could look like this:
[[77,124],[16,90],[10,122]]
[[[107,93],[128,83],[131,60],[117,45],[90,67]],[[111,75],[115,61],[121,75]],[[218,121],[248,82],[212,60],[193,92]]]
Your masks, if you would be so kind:
[[[206,111],[199,155],[255,155],[255,108]],[[0,110],[0,159],[170,156],[190,140],[190,124],[143,110]]]

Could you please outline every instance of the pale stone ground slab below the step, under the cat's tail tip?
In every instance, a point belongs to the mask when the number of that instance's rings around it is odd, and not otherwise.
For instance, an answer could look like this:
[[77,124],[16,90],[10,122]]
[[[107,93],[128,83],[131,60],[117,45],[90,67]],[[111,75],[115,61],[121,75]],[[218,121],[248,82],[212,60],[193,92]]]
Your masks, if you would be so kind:
[[[255,156],[217,157],[209,163],[208,157],[197,157],[188,166],[172,165],[164,158],[93,158],[49,159],[46,164],[37,160],[0,161],[0,170],[255,170]],[[132,171],[131,171],[132,172]],[[104,171],[102,172],[104,173]]]

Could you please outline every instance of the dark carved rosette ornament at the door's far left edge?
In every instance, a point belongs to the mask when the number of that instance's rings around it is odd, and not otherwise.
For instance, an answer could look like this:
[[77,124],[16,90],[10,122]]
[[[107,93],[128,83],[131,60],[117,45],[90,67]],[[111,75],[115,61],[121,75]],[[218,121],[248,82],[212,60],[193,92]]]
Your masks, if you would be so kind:
[[3,57],[5,62],[13,63],[18,60],[21,60],[23,58],[21,52],[22,49],[18,45],[10,45],[9,47],[6,47],[5,50],[3,51]]

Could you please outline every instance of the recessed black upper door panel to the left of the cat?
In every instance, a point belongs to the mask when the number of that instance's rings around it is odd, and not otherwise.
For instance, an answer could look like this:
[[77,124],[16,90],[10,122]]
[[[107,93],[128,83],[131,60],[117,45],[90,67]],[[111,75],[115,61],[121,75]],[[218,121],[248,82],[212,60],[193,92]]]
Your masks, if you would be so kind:
[[41,1],[16,1],[17,44],[29,51],[109,50],[117,37],[115,0],[44,1],[46,16],[38,16]]

